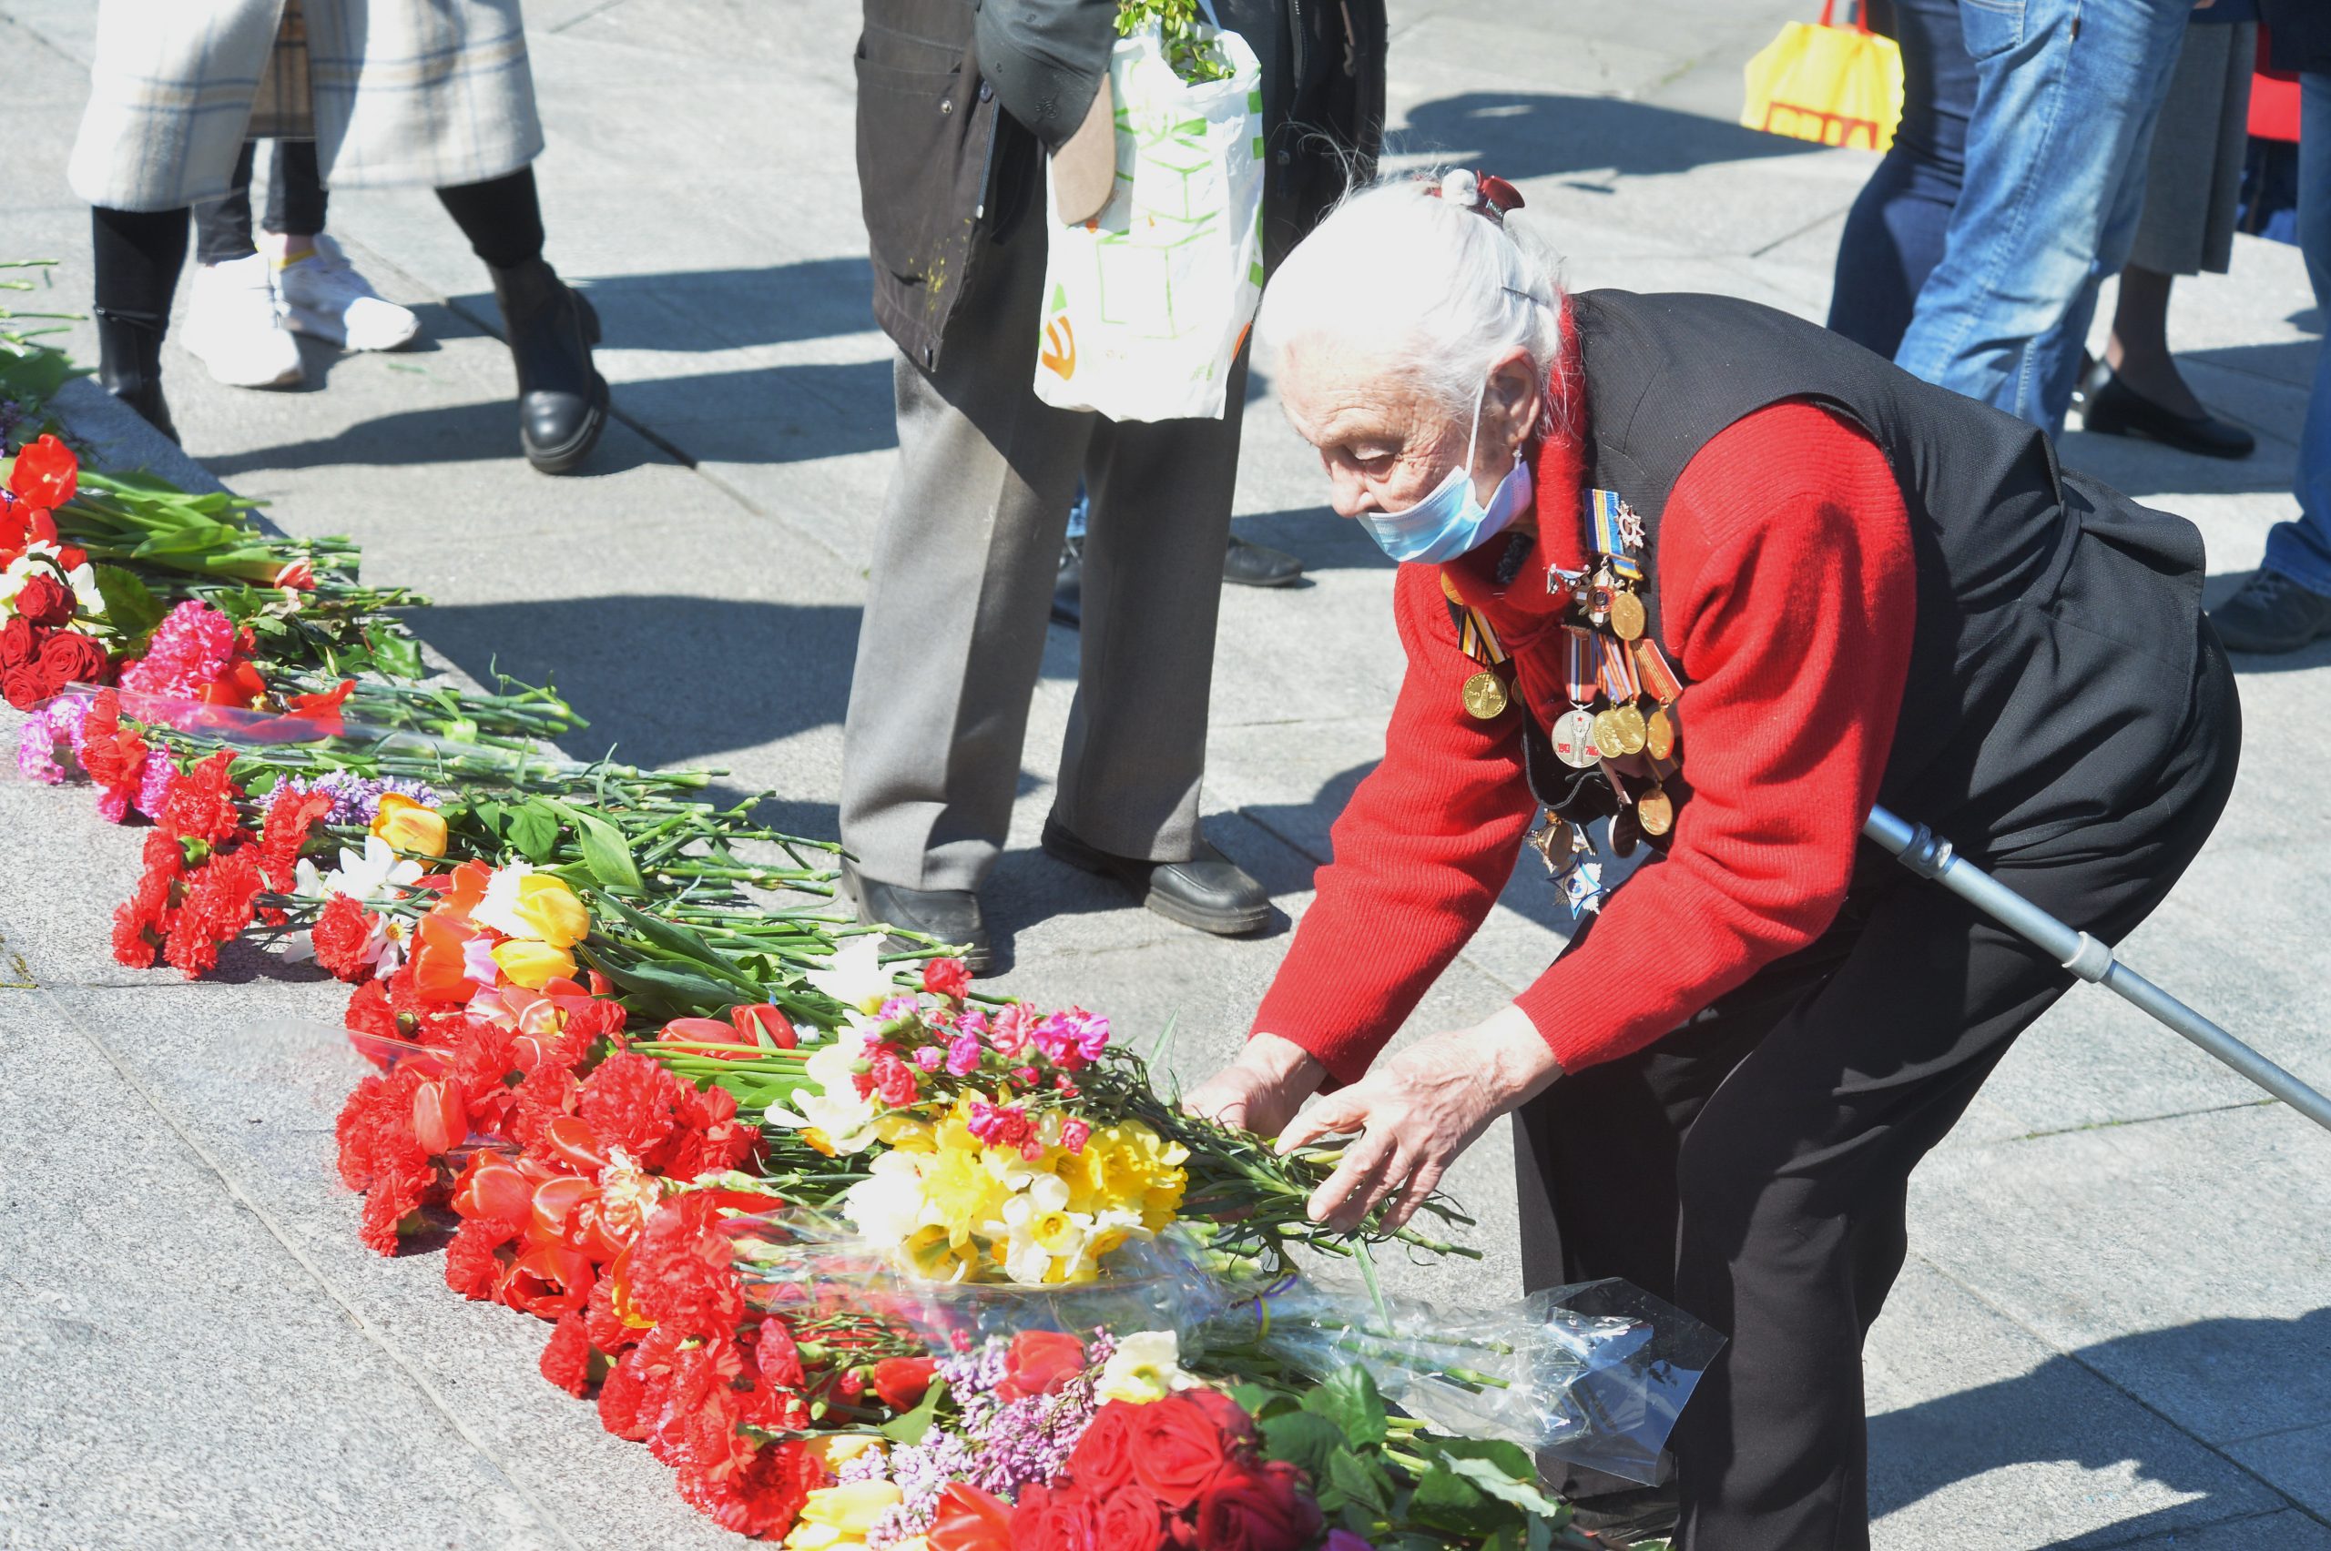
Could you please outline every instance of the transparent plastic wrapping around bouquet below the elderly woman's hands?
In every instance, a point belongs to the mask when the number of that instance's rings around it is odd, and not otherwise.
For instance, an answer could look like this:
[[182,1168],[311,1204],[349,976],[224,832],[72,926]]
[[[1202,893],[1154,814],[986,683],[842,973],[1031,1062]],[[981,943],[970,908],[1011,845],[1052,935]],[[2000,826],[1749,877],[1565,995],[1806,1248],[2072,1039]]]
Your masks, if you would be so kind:
[[732,1218],[748,1295],[772,1309],[848,1299],[932,1351],[1021,1330],[1172,1330],[1184,1360],[1254,1358],[1310,1379],[1359,1365],[1389,1402],[1459,1437],[1506,1439],[1629,1481],[1660,1451],[1723,1337],[1622,1281],[1531,1292],[1494,1309],[1373,1297],[1357,1283],[1240,1276],[1177,1230],[1126,1244],[1100,1281],[1026,1288],[914,1276],[895,1248],[807,1211]]

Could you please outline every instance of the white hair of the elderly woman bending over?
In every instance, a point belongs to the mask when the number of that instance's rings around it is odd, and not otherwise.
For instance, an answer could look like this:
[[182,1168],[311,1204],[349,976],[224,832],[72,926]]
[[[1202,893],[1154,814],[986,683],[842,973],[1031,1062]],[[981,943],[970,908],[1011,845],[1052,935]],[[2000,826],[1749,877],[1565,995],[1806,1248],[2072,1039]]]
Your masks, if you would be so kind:
[[1471,172],[1396,175],[1343,196],[1263,291],[1254,324],[1277,352],[1326,338],[1385,359],[1450,415],[1471,415],[1490,363],[1520,345],[1538,368],[1545,419],[1566,394],[1562,282],[1529,233],[1485,214]]

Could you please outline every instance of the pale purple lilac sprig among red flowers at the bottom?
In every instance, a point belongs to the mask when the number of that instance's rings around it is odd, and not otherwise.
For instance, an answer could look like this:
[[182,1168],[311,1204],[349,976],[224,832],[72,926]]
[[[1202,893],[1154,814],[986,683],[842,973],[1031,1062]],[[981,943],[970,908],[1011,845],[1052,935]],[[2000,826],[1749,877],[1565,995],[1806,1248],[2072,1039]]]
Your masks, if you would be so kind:
[[867,1546],[886,1551],[928,1535],[949,1481],[970,1481],[1012,1502],[1023,1486],[1051,1481],[1068,1469],[1068,1456],[1100,1409],[1093,1376],[1114,1351],[1117,1341],[1107,1332],[1096,1332],[1084,1346],[1089,1365],[1084,1374],[1070,1379],[1056,1395],[1021,1400],[1002,1400],[995,1393],[1007,1372],[1002,1337],[991,1337],[979,1351],[942,1358],[939,1379],[960,1409],[956,1428],[932,1428],[921,1444],[902,1444],[888,1458],[869,1451],[839,1472],[846,1481],[888,1479],[902,1493],[867,1532]]

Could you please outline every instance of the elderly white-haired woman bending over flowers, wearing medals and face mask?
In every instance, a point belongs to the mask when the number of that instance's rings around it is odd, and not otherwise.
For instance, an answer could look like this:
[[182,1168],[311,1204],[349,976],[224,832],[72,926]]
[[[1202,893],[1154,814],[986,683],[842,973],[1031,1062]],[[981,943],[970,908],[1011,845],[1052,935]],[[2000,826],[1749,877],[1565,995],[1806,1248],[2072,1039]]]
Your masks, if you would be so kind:
[[[1403,561],[1408,673],[1193,1104],[1357,1134],[1312,1202],[1336,1223],[1406,1218],[1513,1113],[1529,1286],[1625,1276],[1730,1337],[1676,1432],[1683,1544],[1867,1546],[1860,1351],[1909,1171],[2070,976],[1860,824],[1883,801],[2135,927],[2240,745],[2200,538],[1769,307],[1566,296],[1517,203],[1359,191],[1263,296],[1336,510]],[[1378,1062],[1524,834],[1578,932]]]

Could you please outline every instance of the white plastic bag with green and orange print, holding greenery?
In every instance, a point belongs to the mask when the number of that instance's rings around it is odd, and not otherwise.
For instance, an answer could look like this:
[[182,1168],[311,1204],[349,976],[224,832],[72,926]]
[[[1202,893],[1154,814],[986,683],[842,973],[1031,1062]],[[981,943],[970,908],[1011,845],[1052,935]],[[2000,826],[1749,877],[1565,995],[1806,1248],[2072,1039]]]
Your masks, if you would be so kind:
[[1238,33],[1200,28],[1231,75],[1189,84],[1156,30],[1110,51],[1117,191],[1051,214],[1035,396],[1110,419],[1221,419],[1263,296],[1263,75]]

